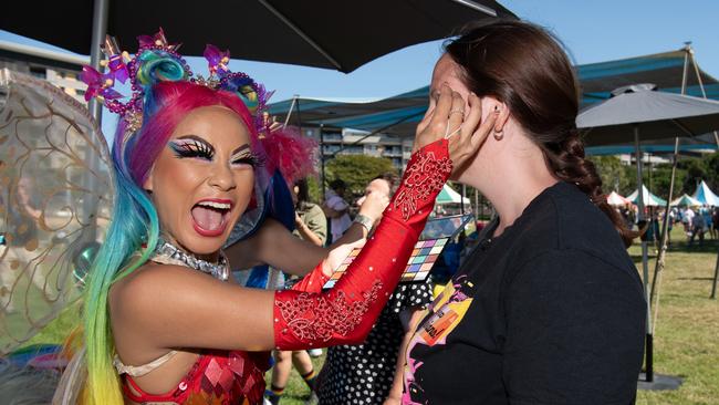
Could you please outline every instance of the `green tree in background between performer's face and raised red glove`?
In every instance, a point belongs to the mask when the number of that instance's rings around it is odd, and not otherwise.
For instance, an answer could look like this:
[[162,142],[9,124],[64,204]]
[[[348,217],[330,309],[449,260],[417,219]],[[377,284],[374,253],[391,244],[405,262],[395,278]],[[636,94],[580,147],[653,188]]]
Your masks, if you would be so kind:
[[327,184],[342,179],[347,185],[347,191],[354,196],[362,195],[373,178],[386,172],[397,173],[392,160],[365,155],[338,155],[325,165]]

